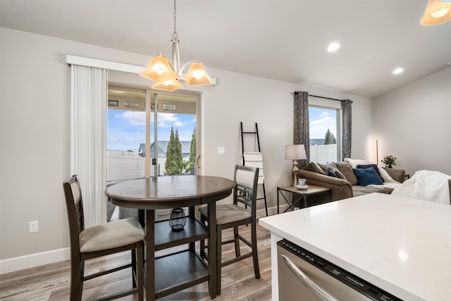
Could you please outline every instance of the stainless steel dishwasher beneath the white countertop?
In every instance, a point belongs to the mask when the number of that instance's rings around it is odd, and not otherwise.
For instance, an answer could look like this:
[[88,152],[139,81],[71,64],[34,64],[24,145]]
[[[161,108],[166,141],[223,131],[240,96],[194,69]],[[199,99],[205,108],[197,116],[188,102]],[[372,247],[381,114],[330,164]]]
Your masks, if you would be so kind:
[[280,301],[400,301],[289,240],[277,242]]

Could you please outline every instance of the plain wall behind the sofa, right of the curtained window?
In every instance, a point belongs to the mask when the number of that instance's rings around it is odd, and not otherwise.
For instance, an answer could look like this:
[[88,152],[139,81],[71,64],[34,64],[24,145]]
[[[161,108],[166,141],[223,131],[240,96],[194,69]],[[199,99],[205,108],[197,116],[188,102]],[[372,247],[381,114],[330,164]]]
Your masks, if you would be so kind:
[[379,161],[391,154],[410,176],[451,175],[451,67],[377,97],[371,109]]

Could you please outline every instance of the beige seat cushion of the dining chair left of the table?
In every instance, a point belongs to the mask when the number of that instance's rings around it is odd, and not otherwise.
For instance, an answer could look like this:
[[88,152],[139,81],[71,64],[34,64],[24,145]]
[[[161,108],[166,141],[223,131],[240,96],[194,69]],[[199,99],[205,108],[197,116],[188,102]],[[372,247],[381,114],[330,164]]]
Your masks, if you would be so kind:
[[80,252],[96,252],[144,240],[144,231],[137,219],[121,219],[85,228],[79,239]]

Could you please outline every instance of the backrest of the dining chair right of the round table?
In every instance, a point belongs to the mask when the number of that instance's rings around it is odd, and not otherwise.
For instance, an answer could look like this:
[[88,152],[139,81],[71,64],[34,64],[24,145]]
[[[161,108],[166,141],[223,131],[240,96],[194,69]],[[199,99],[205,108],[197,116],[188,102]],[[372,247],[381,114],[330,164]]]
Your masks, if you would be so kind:
[[245,204],[252,210],[255,209],[257,200],[257,184],[259,168],[250,166],[235,166],[235,190],[233,202]]

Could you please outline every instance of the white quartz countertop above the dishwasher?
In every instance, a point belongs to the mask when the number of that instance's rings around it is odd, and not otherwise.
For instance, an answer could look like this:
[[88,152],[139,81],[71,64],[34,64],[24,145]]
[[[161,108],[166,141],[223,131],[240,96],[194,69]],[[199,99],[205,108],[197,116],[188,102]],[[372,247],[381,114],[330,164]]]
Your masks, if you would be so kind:
[[259,219],[402,300],[451,300],[451,206],[381,193]]

